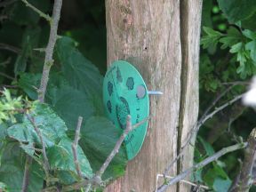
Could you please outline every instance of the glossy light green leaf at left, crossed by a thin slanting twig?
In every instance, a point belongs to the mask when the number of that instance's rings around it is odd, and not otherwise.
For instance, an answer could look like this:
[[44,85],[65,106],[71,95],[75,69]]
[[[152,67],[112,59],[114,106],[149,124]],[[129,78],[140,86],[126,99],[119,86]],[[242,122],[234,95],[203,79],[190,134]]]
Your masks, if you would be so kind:
[[[46,147],[51,147],[54,143],[59,142],[61,138],[66,137],[65,132],[68,130],[66,124],[47,105],[35,101],[29,116],[34,117],[35,124],[42,133]],[[41,144],[35,128],[27,116],[24,116],[22,124],[12,125],[7,132],[9,137],[14,140]]]

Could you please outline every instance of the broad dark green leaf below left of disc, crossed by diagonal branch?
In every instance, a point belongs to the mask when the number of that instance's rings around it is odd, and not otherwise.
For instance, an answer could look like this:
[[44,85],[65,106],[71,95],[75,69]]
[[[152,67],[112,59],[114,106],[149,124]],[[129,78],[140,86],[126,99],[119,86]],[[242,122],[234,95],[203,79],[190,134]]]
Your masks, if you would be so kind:
[[[81,129],[80,146],[91,162],[94,172],[100,169],[106,158],[116,145],[121,132],[105,117],[93,116],[86,121]],[[125,149],[121,147],[117,156],[109,165],[103,178],[116,178],[124,174],[127,156]]]

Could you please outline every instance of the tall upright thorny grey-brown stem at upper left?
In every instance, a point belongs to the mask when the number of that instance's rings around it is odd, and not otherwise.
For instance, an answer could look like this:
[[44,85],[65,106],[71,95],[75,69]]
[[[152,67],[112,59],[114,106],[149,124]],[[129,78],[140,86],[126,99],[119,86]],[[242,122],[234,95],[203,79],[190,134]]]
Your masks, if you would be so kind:
[[49,42],[45,49],[43,75],[41,78],[40,88],[38,90],[38,100],[40,100],[41,102],[44,102],[46,87],[49,80],[49,73],[53,64],[52,54],[53,54],[53,49],[57,40],[57,30],[58,30],[58,24],[60,20],[61,5],[62,5],[62,0],[54,1]]

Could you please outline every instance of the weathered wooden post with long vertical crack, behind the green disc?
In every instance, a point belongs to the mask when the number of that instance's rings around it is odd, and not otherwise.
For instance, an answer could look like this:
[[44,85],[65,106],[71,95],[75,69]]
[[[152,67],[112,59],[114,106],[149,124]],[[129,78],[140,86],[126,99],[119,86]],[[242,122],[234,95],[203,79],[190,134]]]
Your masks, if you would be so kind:
[[[184,7],[186,12],[180,12]],[[186,19],[181,13],[188,14]],[[131,62],[148,90],[164,95],[150,97],[153,117],[140,153],[128,163],[125,175],[105,191],[154,191],[156,174],[163,173],[177,156],[182,140],[196,124],[200,16],[201,0],[182,4],[178,0],[106,0],[108,65],[114,60]],[[175,164],[169,175],[180,172],[178,167],[188,168],[192,156],[188,148],[186,161],[180,161],[182,166]],[[176,190],[176,186],[170,188]]]

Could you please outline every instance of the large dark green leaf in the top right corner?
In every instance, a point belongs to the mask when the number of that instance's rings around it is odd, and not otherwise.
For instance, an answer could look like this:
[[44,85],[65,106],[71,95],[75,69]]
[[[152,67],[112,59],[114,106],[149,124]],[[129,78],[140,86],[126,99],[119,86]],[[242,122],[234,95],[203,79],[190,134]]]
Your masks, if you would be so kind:
[[256,12],[254,0],[218,0],[218,3],[221,11],[231,23],[246,20]]

